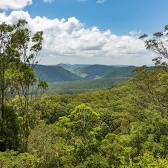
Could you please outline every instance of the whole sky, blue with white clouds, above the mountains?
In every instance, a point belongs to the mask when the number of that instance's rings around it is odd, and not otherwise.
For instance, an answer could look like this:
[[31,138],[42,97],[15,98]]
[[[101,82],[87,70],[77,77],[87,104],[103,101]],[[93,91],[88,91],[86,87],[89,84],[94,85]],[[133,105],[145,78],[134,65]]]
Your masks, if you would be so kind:
[[151,64],[138,36],[168,24],[168,0],[0,0],[0,22],[44,31],[41,64]]

